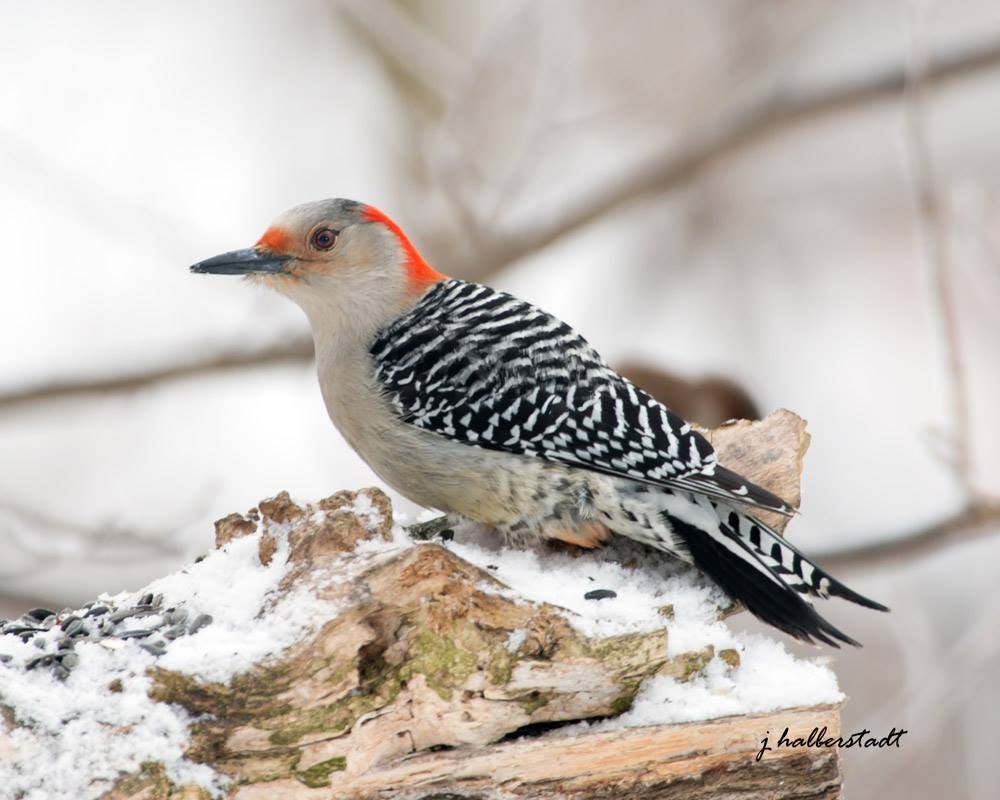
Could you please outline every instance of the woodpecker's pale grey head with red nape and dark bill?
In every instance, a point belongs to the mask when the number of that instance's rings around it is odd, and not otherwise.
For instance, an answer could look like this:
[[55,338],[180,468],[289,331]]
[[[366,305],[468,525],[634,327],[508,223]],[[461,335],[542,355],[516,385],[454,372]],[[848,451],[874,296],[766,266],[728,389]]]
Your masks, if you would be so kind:
[[302,306],[314,327],[331,313],[392,318],[445,277],[385,214],[342,199],[296,206],[253,247],[200,261],[191,271],[244,275],[269,286]]

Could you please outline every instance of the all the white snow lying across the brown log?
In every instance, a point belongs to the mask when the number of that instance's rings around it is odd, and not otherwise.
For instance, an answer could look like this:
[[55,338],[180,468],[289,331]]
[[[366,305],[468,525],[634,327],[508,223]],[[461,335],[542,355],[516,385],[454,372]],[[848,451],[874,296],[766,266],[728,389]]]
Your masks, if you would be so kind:
[[[338,509],[339,510],[339,509]],[[345,506],[374,527],[381,521],[371,500],[359,494]],[[322,512],[316,512],[322,513]],[[421,519],[428,517],[422,514]],[[397,515],[392,540],[358,543],[335,574],[314,575],[317,584],[349,580],[371,557],[387,557],[415,545],[404,515]],[[58,629],[39,635],[39,645],[17,636],[0,636],[0,704],[10,708],[20,727],[0,737],[0,786],[24,800],[97,798],[122,773],[144,761],[162,763],[175,784],[194,783],[218,795],[226,779],[184,758],[190,715],[178,706],[148,697],[152,666],[181,672],[204,682],[226,682],[253,665],[266,663],[336,614],[330,601],[317,599],[315,585],[299,584],[278,592],[288,570],[287,529],[271,526],[277,550],[269,565],[258,558],[261,533],[235,539],[178,573],[153,581],[138,592],[100,598],[128,607],[143,595],[162,595],[162,607],[188,609],[192,618],[211,615],[212,623],[171,641],[155,657],[136,640],[81,640],[78,664],[64,681],[25,664],[54,648]],[[821,660],[799,660],[780,642],[736,634],[719,622],[726,598],[694,570],[641,545],[621,541],[598,551],[565,553],[550,547],[507,548],[476,526],[463,525],[441,546],[486,570],[505,584],[483,581],[483,588],[516,599],[558,608],[582,633],[607,637],[665,628],[668,655],[714,648],[715,656],[694,678],[647,680],[633,707],[619,717],[569,726],[549,735],[566,735],[581,726],[595,730],[690,722],[778,708],[835,703],[843,699],[836,678]],[[596,589],[604,599],[588,600]],[[82,613],[81,613],[82,615]],[[143,624],[143,623],[137,623]],[[150,624],[148,621],[145,624]],[[512,631],[514,652],[526,631]],[[733,668],[719,657],[739,654]],[[5,661],[2,656],[9,656]]]

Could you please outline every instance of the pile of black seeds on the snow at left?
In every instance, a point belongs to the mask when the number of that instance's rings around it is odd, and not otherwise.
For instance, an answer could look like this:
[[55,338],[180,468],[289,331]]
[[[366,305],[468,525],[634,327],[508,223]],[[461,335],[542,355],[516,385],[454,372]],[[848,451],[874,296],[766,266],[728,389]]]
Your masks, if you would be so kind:
[[[24,663],[25,669],[47,668],[65,680],[80,663],[76,646],[98,642],[117,649],[135,639],[154,656],[167,652],[170,642],[189,636],[212,622],[209,614],[193,616],[183,606],[163,607],[163,595],[146,594],[133,606],[118,606],[108,600],[93,600],[83,608],[56,612],[33,608],[16,620],[0,620],[0,636],[17,636],[31,642],[39,654]],[[0,664],[11,656],[0,654]]]

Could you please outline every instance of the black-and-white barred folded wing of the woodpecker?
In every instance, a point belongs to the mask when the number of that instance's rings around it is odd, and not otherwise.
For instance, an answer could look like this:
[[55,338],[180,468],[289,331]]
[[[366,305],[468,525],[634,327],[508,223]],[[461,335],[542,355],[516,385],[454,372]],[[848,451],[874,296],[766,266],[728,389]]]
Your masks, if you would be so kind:
[[612,370],[566,323],[449,280],[383,330],[375,375],[400,417],[473,446],[790,513],[708,440]]

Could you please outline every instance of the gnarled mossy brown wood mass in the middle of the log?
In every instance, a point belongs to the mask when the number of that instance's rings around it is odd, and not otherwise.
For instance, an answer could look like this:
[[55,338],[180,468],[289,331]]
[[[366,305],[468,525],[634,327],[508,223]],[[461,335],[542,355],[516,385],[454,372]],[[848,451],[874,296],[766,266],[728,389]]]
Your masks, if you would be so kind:
[[[384,495],[368,494],[388,511]],[[323,504],[353,500],[340,493]],[[588,639],[557,609],[504,597],[488,571],[436,544],[359,555],[360,540],[388,540],[388,513],[374,530],[350,512],[321,525],[313,516],[285,495],[261,504],[259,524],[266,554],[271,526],[301,520],[289,534],[288,588],[306,575],[331,576],[316,596],[338,613],[314,638],[228,685],[154,674],[157,700],[213,716],[195,726],[191,755],[269,792],[330,785],[331,771],[344,786],[414,752],[620,713],[646,677],[683,679],[710,657],[668,658],[662,629]],[[222,521],[220,539],[247,535],[247,522]]]

